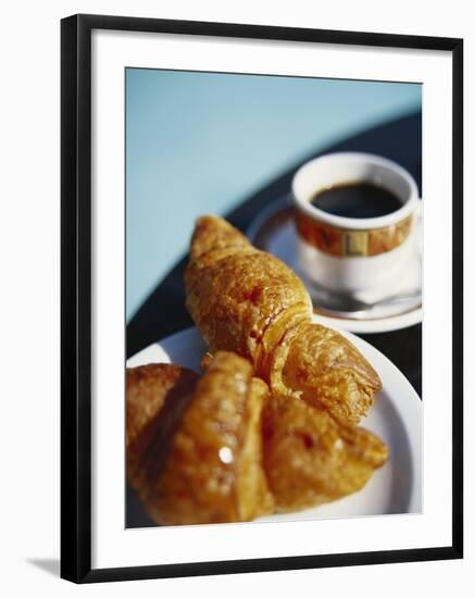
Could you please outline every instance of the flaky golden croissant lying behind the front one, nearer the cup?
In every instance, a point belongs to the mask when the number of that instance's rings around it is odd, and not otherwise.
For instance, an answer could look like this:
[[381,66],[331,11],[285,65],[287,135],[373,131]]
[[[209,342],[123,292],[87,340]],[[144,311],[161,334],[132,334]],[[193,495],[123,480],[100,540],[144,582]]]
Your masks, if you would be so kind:
[[216,216],[197,221],[186,304],[211,352],[248,359],[275,395],[358,424],[380,389],[377,373],[339,333],[312,323],[310,296],[282,261]]

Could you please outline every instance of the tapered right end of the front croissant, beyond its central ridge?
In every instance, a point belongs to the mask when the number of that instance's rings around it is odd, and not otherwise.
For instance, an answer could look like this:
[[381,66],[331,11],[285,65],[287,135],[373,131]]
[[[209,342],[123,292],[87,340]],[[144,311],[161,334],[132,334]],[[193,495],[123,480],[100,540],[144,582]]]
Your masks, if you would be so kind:
[[388,457],[366,429],[338,423],[292,397],[272,397],[263,412],[264,468],[276,510],[315,507],[361,489]]

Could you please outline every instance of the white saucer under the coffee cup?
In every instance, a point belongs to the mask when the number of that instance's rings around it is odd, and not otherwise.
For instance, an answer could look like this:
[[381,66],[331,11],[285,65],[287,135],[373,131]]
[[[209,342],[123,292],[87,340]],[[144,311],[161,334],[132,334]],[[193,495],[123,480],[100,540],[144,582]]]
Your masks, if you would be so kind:
[[[422,322],[422,214],[415,219],[411,239],[413,253],[403,276],[395,281],[393,288],[384,294],[366,292],[354,297],[372,303],[354,313],[342,315],[325,304],[327,289],[317,288],[305,281],[297,263],[297,233],[293,225],[293,208],[288,196],[282,197],[262,210],[248,228],[248,237],[259,249],[273,253],[286,262],[303,279],[312,297],[314,312],[325,325],[353,333],[382,333],[407,328]],[[408,299],[401,300],[401,294]]]

